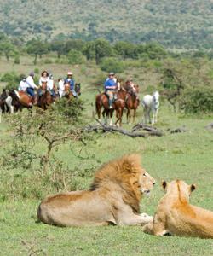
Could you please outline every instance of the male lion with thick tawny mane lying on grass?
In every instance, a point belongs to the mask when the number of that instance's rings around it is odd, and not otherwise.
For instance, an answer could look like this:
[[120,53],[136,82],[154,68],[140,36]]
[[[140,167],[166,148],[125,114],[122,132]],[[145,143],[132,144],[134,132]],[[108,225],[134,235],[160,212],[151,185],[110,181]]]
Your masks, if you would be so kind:
[[147,224],[153,217],[140,215],[139,203],[154,183],[138,155],[125,155],[101,166],[89,190],[46,197],[37,218],[58,226]]

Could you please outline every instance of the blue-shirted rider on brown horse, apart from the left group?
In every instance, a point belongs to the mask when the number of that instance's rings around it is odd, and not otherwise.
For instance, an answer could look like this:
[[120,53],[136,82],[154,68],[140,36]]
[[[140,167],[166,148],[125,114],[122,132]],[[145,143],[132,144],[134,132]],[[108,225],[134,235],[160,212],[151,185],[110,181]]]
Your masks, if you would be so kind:
[[113,72],[109,73],[108,78],[104,83],[105,93],[109,97],[109,108],[112,109],[112,103],[114,99],[115,91],[117,90],[117,79]]

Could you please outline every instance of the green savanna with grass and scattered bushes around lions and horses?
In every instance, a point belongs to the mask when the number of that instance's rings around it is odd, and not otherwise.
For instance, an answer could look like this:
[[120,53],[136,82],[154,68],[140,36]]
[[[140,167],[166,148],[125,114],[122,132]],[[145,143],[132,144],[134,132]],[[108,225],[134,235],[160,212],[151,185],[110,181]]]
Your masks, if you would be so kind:
[[[110,45],[111,46],[111,45]],[[113,49],[114,46],[111,46]],[[157,54],[157,53],[155,53]],[[83,55],[83,53],[82,53]],[[85,56],[85,55],[83,55]],[[37,205],[48,194],[71,189],[88,189],[95,169],[112,158],[135,152],[142,165],[157,179],[149,198],[141,201],[141,212],[153,214],[163,195],[163,179],[181,178],[196,183],[193,204],[209,208],[212,187],[212,61],[208,55],[170,55],[146,59],[123,58],[124,70],[118,77],[132,76],[140,84],[140,96],[161,92],[157,127],[163,131],[183,127],[184,133],[164,137],[131,138],[113,133],[88,133],[84,127],[95,124],[95,95],[102,90],[107,73],[95,56],[83,64],[68,64],[68,57],[50,52],[42,58],[23,53],[20,64],[1,58],[1,87],[14,87],[20,74],[34,70],[37,77],[49,69],[55,78],[72,69],[82,83],[79,101],[46,112],[35,108],[4,115],[0,126],[0,225],[1,253],[80,255],[210,255],[212,241],[180,237],[153,237],[140,227],[96,227],[61,229],[37,224]],[[119,59],[118,56],[114,56]],[[111,57],[110,57],[111,58]],[[63,60],[58,62],[59,60]],[[169,97],[170,96],[170,97]],[[196,100],[196,99],[199,99]],[[136,122],[141,122],[138,109]],[[130,130],[125,124],[124,129]]]

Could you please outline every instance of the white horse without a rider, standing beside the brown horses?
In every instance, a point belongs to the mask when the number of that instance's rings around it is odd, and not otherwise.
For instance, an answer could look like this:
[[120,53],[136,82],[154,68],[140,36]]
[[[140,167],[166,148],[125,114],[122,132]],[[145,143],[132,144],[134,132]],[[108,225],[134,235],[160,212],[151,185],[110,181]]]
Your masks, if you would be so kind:
[[[159,108],[159,93],[158,90],[153,93],[153,95],[146,95],[143,97],[141,102],[143,109],[144,109],[144,122],[147,124],[147,119],[149,123],[152,125],[157,123],[157,116],[158,116],[158,108]],[[151,115],[153,113],[153,119],[151,122]]]

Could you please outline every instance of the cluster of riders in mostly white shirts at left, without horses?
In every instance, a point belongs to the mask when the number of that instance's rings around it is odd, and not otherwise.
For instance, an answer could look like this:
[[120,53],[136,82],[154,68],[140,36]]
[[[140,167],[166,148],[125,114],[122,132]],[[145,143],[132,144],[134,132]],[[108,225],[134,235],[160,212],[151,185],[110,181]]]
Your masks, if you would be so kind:
[[53,98],[56,97],[56,94],[60,98],[64,96],[67,85],[68,90],[72,92],[72,95],[78,97],[78,93],[75,90],[75,80],[73,79],[73,73],[71,71],[67,72],[66,79],[58,79],[58,86],[55,86],[53,74],[48,73],[46,70],[41,73],[38,85],[35,83],[34,77],[34,72],[29,73],[27,77],[23,76],[18,88],[19,91],[31,96],[34,104],[36,104],[35,90],[37,90],[37,95],[41,96],[43,94],[43,84],[45,84],[45,90],[48,90]]

